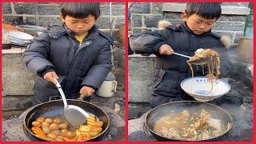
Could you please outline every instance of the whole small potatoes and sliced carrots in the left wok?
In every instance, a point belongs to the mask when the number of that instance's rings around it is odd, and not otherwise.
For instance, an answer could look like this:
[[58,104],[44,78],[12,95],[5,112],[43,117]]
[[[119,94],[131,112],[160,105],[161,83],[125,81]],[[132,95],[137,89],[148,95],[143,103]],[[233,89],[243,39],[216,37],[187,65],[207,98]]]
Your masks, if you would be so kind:
[[103,122],[91,114],[86,125],[74,129],[61,118],[39,117],[32,122],[31,131],[38,137],[51,142],[77,142],[96,137],[102,132]]

